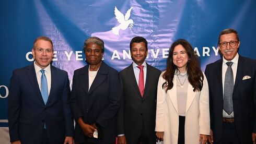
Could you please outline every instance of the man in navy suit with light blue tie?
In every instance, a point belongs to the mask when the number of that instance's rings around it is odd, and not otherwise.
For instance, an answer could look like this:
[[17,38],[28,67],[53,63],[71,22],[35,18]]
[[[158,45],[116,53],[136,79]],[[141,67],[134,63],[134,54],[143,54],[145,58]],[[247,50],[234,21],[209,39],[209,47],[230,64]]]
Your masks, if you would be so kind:
[[15,69],[10,81],[8,122],[11,143],[73,143],[67,72],[50,65],[53,44],[34,41],[32,65]]

